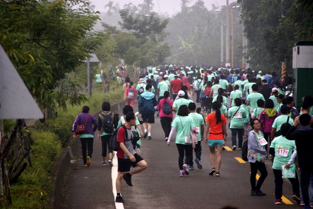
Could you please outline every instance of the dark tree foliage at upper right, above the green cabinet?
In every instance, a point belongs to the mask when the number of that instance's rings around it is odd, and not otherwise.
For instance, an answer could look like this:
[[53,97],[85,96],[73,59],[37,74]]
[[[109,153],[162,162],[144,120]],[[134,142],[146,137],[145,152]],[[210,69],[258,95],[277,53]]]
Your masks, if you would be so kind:
[[[281,62],[292,68],[292,45],[313,41],[313,4],[302,0],[239,0],[249,63],[257,70],[280,72]],[[256,27],[257,26],[257,27]]]

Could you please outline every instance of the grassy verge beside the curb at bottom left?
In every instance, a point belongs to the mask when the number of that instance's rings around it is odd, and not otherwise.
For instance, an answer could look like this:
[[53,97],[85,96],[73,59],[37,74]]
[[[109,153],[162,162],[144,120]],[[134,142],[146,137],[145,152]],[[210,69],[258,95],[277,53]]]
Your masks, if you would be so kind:
[[18,182],[11,186],[13,205],[3,208],[47,208],[47,193],[51,190],[49,172],[61,151],[61,144],[58,136],[49,131],[34,131],[32,138],[35,141],[30,154],[33,168],[26,167]]

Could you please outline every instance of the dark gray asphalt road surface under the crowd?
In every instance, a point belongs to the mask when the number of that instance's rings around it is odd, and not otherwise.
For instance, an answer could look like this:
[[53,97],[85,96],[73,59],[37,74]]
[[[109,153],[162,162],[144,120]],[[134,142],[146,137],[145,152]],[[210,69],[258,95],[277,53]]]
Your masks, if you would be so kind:
[[[136,107],[135,111],[137,111]],[[138,118],[140,119],[140,115]],[[285,205],[284,202],[282,206],[274,205],[275,184],[270,161],[266,161],[269,175],[261,188],[267,195],[250,196],[250,166],[248,162],[240,163],[235,159],[235,157],[241,157],[241,151],[238,150],[223,151],[221,176],[209,176],[211,169],[209,147],[203,143],[201,160],[203,169],[199,170],[195,166],[195,170],[190,171],[189,176],[179,176],[178,152],[175,143],[172,141],[171,146],[167,146],[160,119],[156,118],[155,122],[152,128],[153,139],[142,140],[141,156],[148,163],[148,168],[132,177],[132,187],[122,181],[121,194],[125,200],[124,208],[218,209],[223,206],[235,206],[241,209],[299,208],[291,199],[292,187],[288,180],[284,180],[283,195],[286,199],[283,201],[290,205]],[[231,147],[230,136],[231,132],[228,130],[226,143],[228,147]],[[96,138],[94,140],[94,153],[90,167],[83,167],[80,159],[69,168],[60,197],[60,208],[115,208],[111,170],[117,165],[101,166],[100,141]]]

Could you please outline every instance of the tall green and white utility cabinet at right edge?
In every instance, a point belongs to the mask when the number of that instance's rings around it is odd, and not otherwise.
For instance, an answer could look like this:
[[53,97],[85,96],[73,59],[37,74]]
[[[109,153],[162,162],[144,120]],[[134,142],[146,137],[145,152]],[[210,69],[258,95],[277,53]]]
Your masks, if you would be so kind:
[[295,107],[300,110],[302,98],[313,96],[313,42],[298,41],[293,45],[293,98]]

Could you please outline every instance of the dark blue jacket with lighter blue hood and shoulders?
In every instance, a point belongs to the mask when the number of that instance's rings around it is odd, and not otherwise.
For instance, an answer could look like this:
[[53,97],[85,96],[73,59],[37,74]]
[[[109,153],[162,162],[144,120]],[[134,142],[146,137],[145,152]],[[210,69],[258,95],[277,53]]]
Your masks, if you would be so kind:
[[141,107],[141,114],[142,113],[155,113],[154,106],[157,105],[156,102],[156,95],[151,93],[150,91],[146,91],[140,94],[138,105]]

